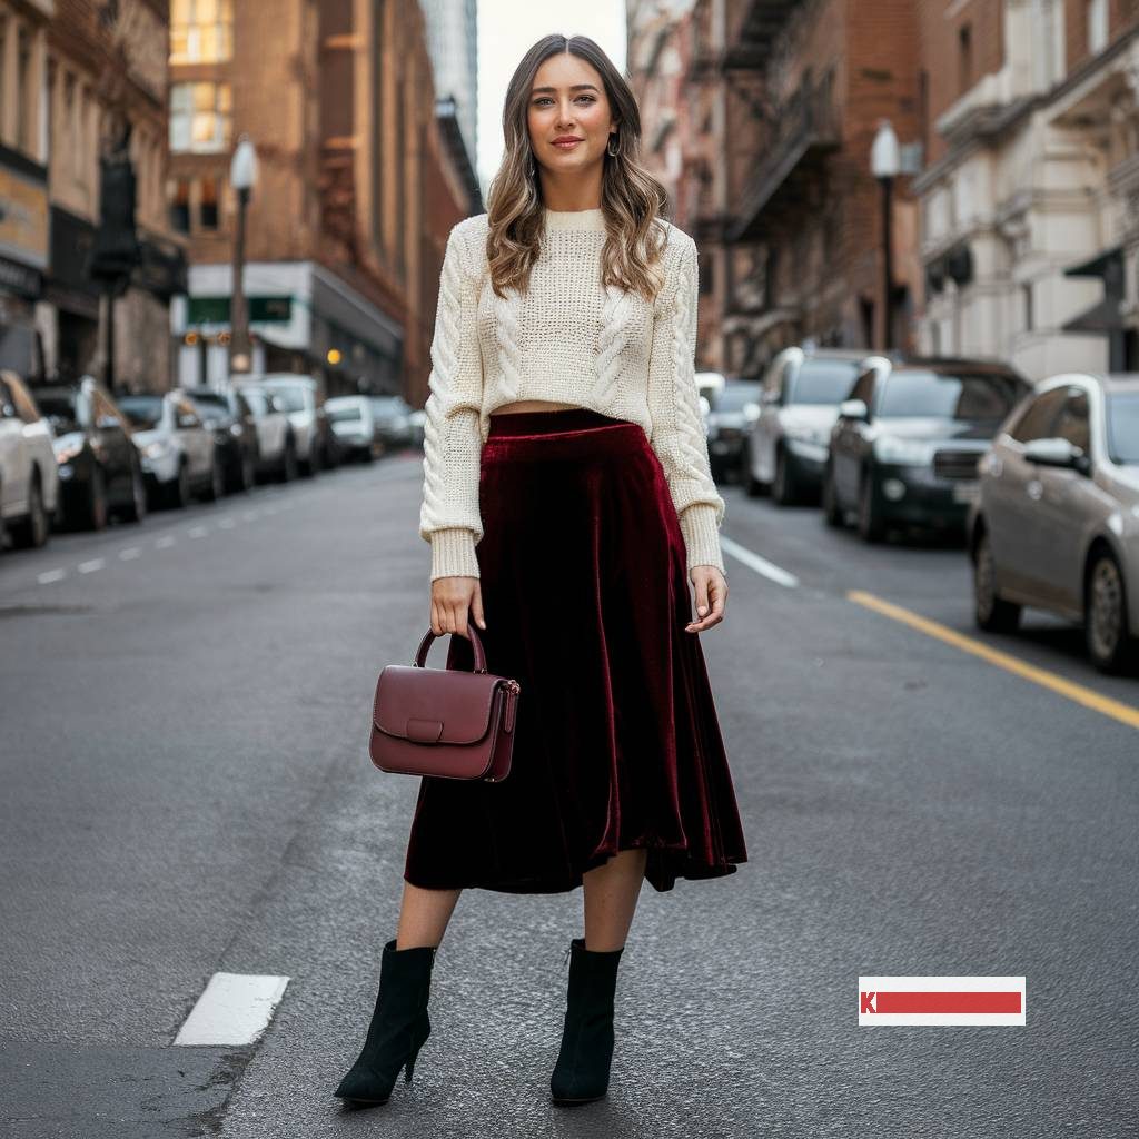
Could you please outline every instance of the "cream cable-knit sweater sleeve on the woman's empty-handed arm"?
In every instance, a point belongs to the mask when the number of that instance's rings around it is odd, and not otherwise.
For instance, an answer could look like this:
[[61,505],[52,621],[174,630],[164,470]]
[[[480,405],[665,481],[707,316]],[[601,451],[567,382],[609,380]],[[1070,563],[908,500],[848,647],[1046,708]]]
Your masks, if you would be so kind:
[[696,243],[687,233],[677,259],[677,279],[665,285],[653,319],[648,403],[653,417],[649,443],[669,481],[688,551],[688,568],[723,571],[720,524],[724,501],[708,462],[707,435],[696,385]]

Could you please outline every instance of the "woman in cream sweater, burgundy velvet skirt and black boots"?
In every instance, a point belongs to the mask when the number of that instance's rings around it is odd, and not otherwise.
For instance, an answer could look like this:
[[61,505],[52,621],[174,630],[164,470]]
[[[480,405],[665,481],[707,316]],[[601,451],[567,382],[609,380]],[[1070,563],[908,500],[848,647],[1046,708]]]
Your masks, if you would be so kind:
[[473,666],[473,617],[489,671],[521,682],[513,765],[497,784],[420,781],[396,937],[336,1090],[357,1104],[384,1103],[404,1065],[411,1079],[462,888],[583,887],[550,1090],[587,1103],[608,1087],[641,883],[747,860],[696,637],[723,620],[728,584],[694,377],[695,244],[658,216],[636,100],[592,40],[527,52],[503,130],[489,213],[444,255],[420,534],[432,631],[458,634],[448,667]]

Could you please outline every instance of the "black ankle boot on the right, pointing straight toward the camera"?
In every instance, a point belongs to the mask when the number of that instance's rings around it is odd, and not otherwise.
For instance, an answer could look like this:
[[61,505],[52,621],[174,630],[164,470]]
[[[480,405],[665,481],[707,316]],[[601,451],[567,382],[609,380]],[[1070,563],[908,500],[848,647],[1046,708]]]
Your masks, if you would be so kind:
[[570,942],[570,985],[562,1048],[550,1076],[555,1104],[588,1104],[609,1087],[613,1059],[613,995],[623,949],[585,949],[584,937]]

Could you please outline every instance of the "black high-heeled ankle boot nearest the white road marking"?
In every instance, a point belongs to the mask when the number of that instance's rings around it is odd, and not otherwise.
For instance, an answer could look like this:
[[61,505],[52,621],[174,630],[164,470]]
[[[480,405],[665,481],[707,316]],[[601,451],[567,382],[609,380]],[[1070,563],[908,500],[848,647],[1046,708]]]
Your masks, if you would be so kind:
[[379,969],[379,995],[368,1026],[363,1050],[333,1092],[355,1104],[387,1103],[400,1068],[407,1065],[404,1082],[424,1041],[431,1035],[427,997],[436,945],[384,947]]

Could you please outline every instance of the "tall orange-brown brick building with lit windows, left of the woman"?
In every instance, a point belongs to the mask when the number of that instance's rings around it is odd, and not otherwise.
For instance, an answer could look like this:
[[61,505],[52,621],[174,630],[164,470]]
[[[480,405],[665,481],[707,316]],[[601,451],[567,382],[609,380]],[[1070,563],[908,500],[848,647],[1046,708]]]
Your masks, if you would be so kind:
[[247,133],[254,371],[421,402],[443,245],[477,181],[456,103],[434,97],[419,6],[174,0],[170,73],[169,207],[192,251],[181,379],[228,374],[229,165]]

